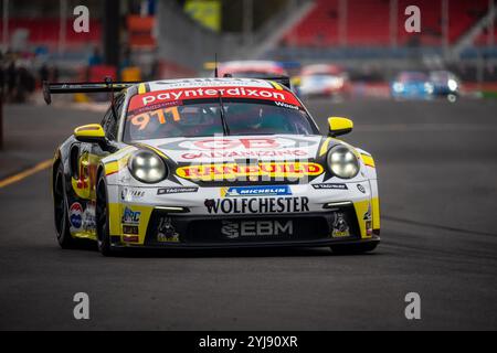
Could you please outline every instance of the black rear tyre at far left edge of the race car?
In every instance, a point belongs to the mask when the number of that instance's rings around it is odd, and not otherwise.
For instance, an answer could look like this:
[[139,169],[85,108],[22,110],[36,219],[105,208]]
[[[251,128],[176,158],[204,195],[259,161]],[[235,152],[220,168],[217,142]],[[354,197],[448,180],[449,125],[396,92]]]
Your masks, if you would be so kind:
[[61,162],[59,163],[53,183],[53,214],[59,245],[63,249],[70,249],[75,247],[76,242],[70,231],[67,200],[65,195],[64,165]]

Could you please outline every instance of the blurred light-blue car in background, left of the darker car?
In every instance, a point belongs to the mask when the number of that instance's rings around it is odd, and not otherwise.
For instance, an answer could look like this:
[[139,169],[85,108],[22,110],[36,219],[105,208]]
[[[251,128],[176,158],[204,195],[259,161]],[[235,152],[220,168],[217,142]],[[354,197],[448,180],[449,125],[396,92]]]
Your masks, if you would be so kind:
[[422,72],[402,72],[391,85],[391,96],[396,99],[430,99],[433,92],[433,84]]

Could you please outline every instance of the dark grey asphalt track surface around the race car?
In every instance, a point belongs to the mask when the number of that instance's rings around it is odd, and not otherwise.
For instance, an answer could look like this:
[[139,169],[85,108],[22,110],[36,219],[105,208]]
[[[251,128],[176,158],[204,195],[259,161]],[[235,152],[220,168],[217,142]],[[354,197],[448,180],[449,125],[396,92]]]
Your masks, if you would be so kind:
[[[133,254],[62,250],[46,170],[0,189],[0,329],[497,329],[497,101],[309,103],[320,126],[374,154],[382,244]],[[2,178],[50,159],[101,114],[6,107]],[[91,320],[73,317],[86,292]],[[408,292],[421,320],[406,320]]]

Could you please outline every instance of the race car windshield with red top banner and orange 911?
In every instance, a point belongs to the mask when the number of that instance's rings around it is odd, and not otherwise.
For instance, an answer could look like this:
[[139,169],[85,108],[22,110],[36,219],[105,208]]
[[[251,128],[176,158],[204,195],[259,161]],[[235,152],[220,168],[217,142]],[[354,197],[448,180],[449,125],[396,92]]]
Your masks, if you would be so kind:
[[[127,111],[124,140],[205,137],[225,132],[230,136],[318,133],[304,107],[289,92],[261,88],[211,90],[218,97],[177,99],[184,95],[186,89],[134,96]],[[239,96],[246,96],[250,92],[251,96],[258,94],[267,96],[267,99],[233,98],[230,90],[239,93]],[[205,92],[209,89],[202,89],[202,94]],[[223,127],[223,118],[228,131]]]

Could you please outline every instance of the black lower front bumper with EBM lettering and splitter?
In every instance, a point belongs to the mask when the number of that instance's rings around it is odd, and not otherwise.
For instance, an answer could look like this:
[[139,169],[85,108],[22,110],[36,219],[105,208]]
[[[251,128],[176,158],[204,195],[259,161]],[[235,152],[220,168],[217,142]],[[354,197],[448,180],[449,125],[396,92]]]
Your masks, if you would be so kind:
[[156,249],[320,247],[379,240],[372,223],[358,217],[357,206],[352,202],[332,204],[322,212],[256,216],[191,215],[156,207],[151,211],[145,239],[140,239],[140,244],[137,244],[138,236],[135,234],[112,237],[114,247]]

